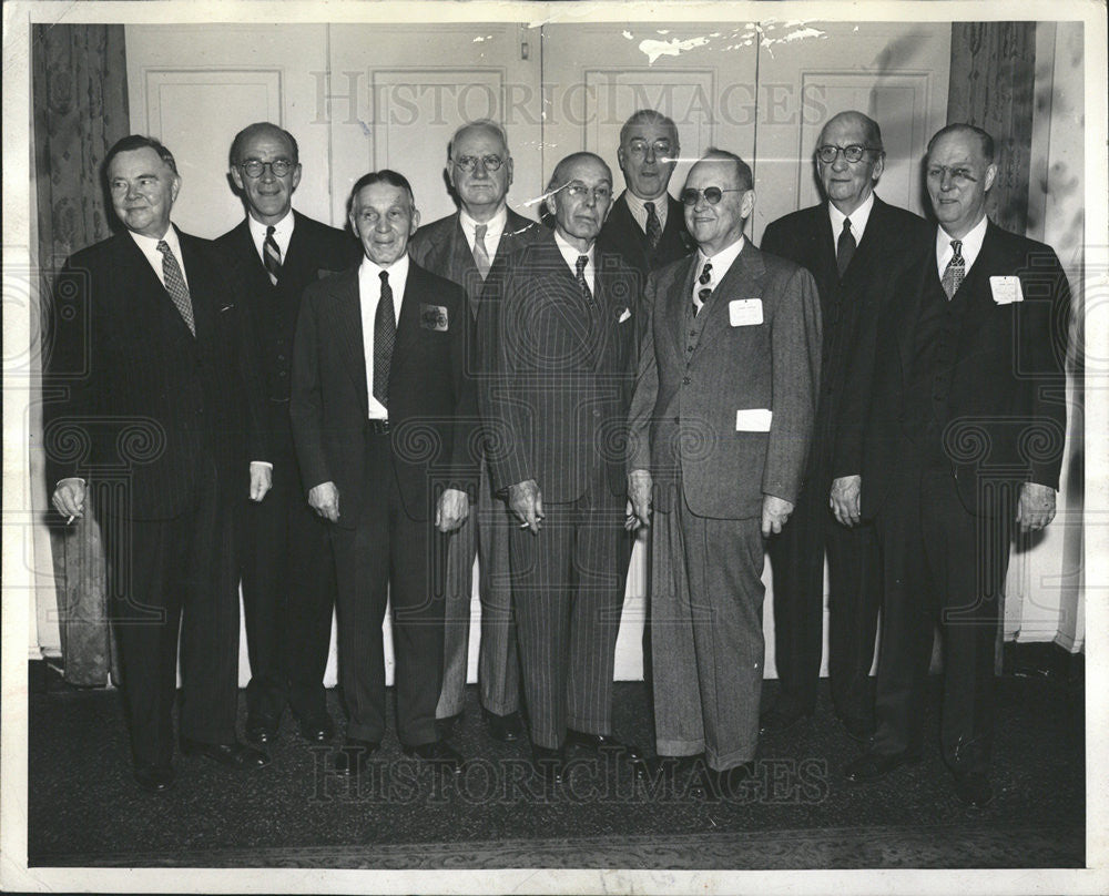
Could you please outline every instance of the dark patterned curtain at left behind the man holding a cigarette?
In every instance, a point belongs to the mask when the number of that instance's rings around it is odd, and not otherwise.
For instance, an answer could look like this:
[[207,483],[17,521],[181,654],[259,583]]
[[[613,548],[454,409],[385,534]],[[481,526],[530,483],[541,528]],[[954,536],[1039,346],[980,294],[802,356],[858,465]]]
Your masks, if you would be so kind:
[[[110,235],[112,211],[100,167],[111,145],[131,130],[123,26],[33,26],[31,64],[40,295],[49,297],[64,258]],[[49,308],[42,310],[49,320]],[[55,397],[47,383],[43,401]],[[53,485],[47,483],[48,495]],[[90,511],[68,528],[52,527],[51,544],[65,679],[100,685],[110,671],[113,679],[119,675],[108,627],[104,548]]]

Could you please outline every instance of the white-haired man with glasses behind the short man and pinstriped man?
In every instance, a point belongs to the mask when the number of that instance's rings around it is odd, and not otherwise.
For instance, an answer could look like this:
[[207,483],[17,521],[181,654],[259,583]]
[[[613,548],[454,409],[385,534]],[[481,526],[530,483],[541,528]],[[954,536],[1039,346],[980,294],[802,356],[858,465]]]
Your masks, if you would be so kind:
[[[452,215],[426,224],[413,236],[417,264],[466,291],[477,318],[481,289],[492,265],[536,240],[539,225],[508,207],[512,156],[499,124],[488,119],[459,128],[447,146],[447,179],[458,200]],[[449,733],[462,714],[469,665],[474,554],[479,556],[481,640],[478,686],[487,731],[499,741],[523,736],[519,713],[519,662],[508,582],[508,508],[492,493],[482,462],[478,500],[450,539],[447,559],[442,693],[436,720]]]

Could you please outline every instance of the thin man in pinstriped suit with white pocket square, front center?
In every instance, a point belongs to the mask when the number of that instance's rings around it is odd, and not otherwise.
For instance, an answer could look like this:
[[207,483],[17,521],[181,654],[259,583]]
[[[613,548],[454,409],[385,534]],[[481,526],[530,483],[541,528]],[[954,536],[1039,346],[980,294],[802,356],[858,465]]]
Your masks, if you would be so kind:
[[519,520],[512,605],[548,783],[561,780],[567,744],[639,758],[611,736],[639,299],[635,272],[594,246],[611,200],[601,159],[559,162],[547,196],[554,232],[498,263],[479,313],[479,399],[494,488]]

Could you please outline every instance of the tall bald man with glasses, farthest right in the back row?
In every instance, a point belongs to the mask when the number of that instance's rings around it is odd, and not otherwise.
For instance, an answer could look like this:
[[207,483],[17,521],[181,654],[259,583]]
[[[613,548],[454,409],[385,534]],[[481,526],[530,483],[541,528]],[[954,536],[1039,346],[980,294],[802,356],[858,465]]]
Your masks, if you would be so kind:
[[[813,714],[824,648],[824,557],[831,583],[828,676],[837,717],[865,741],[874,730],[874,635],[882,600],[874,527],[856,518],[836,522],[828,489],[848,369],[873,355],[873,322],[888,297],[886,284],[914,247],[928,238],[927,223],[874,193],[885,165],[882,131],[862,112],[832,116],[814,154],[824,202],[766,227],[762,248],[808,268],[821,294],[823,369],[805,487],[797,508],[767,552],[774,570],[774,663],[780,691],[762,715],[765,734],[784,732]],[[861,332],[869,333],[868,338]],[[857,502],[857,496],[856,496]]]

